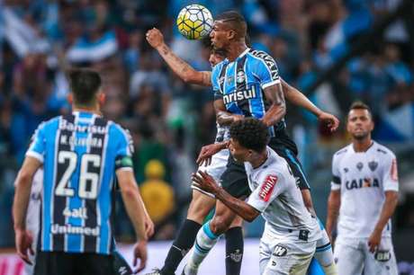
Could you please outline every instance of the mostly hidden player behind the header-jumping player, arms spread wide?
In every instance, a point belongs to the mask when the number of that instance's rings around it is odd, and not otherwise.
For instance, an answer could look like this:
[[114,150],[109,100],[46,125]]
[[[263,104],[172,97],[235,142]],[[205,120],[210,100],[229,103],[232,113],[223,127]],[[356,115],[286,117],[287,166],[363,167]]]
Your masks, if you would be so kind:
[[[164,60],[170,69],[172,69],[176,75],[178,75],[185,83],[189,84],[201,84],[206,86],[211,86],[211,72],[208,71],[196,71],[185,63],[184,60],[178,58],[175,53],[166,45],[163,35],[160,31],[153,28],[147,32],[148,43],[154,48],[157,49],[158,53]],[[211,49],[211,55],[209,61],[211,66],[214,67],[221,61],[225,59],[225,52],[220,49]],[[331,130],[338,128],[338,119],[335,116],[320,111],[312,102],[306,98],[301,92],[295,89],[293,86],[284,82],[283,79],[282,86],[284,97],[295,105],[305,108],[308,111],[311,111],[315,116],[319,118],[320,121],[326,122],[329,124]],[[223,99],[218,98],[214,100],[214,108],[217,116],[217,137],[216,142],[221,142],[223,140],[229,139],[229,124],[233,121],[240,120],[244,116],[239,114],[234,114],[226,110]],[[220,181],[221,174],[226,169],[227,160],[229,158],[229,150],[222,150],[216,155],[213,155],[211,158],[211,164],[207,167],[201,166],[199,169],[210,173],[211,176],[216,180]],[[247,178],[244,179],[247,182]],[[153,274],[174,274],[176,267],[184,258],[184,255],[188,250],[193,246],[193,241],[195,239],[195,234],[198,229],[202,226],[202,221],[204,217],[207,216],[211,208],[214,206],[215,200],[211,194],[206,193],[205,191],[200,191],[198,188],[193,187],[193,199],[188,209],[187,219],[184,221],[180,232],[175,238],[174,244],[171,246],[170,251],[168,252],[166,263],[164,267],[155,271]],[[303,191],[304,197],[310,198],[310,192],[307,188],[304,188]],[[309,192],[309,194],[308,194]],[[308,204],[311,205],[311,199],[306,200]],[[312,208],[312,206],[311,206]],[[239,218],[236,218],[235,221],[229,226],[229,230],[226,231],[226,271],[227,274],[235,275],[239,274],[241,266],[241,255],[243,253],[243,240],[241,233],[241,222]],[[327,251],[327,248],[330,249],[329,238],[326,237],[320,241],[318,246],[320,246],[320,253],[332,254],[331,251]],[[320,261],[323,265],[329,266],[330,262],[323,260],[327,258],[326,256],[320,255]],[[333,260],[333,257],[328,257]]]

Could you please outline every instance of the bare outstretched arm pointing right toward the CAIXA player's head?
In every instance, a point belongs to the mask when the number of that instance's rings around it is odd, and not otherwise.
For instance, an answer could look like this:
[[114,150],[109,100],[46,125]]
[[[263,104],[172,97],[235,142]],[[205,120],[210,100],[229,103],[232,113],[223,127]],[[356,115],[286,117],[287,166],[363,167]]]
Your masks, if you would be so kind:
[[298,89],[294,88],[290,84],[287,84],[282,78],[281,83],[284,90],[284,97],[287,101],[292,102],[297,106],[301,106],[308,111],[311,111],[311,113],[313,113],[318,118],[318,120],[327,123],[331,131],[338,129],[339,120],[337,117],[330,114],[329,112],[321,111],[320,108],[313,104],[303,93],[301,93]]

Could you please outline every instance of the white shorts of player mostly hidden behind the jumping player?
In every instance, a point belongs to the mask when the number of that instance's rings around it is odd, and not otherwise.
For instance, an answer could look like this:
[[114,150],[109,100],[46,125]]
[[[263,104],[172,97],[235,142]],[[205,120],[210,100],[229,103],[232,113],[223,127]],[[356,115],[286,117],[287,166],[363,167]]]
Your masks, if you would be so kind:
[[[211,177],[220,184],[220,177],[221,174],[226,171],[227,163],[229,161],[229,149],[221,150],[219,153],[212,155],[211,157],[211,164],[208,166],[199,166],[198,171],[206,172],[211,175]],[[210,196],[211,198],[214,198],[214,195],[202,191],[202,189],[194,186],[194,184],[191,185],[191,188],[197,191],[201,191],[203,194],[206,194],[207,196]]]

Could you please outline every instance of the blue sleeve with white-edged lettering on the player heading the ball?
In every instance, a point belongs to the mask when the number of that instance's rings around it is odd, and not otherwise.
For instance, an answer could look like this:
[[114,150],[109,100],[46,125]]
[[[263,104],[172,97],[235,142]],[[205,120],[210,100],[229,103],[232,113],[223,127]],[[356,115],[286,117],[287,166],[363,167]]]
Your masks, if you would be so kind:
[[280,83],[279,69],[276,61],[266,53],[260,58],[257,64],[255,75],[257,75],[262,89],[266,89],[274,84]]

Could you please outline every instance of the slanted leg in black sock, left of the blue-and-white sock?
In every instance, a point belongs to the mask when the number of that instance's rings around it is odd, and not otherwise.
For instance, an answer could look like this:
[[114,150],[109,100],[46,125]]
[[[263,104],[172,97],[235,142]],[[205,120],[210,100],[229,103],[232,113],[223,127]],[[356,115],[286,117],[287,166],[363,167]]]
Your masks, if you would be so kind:
[[166,255],[164,267],[159,271],[159,274],[175,274],[186,253],[193,247],[202,221],[214,207],[215,201],[211,196],[193,189],[193,200],[188,208],[187,218],[175,237],[175,241]]

